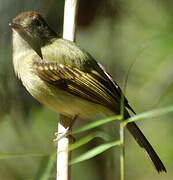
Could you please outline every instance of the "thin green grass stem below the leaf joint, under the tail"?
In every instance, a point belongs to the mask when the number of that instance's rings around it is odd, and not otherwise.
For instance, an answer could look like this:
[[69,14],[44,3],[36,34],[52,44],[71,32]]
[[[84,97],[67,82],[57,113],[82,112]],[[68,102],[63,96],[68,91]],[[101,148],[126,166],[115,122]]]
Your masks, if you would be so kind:
[[122,147],[120,150],[120,180],[125,180],[125,138],[123,123],[120,123],[120,140],[122,143]]

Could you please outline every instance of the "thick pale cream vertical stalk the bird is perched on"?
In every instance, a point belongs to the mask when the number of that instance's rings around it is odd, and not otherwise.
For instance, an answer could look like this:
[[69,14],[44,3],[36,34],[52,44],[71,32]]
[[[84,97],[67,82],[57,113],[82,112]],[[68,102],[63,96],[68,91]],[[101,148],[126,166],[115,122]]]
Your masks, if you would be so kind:
[[[76,14],[77,14],[78,0],[65,0],[64,6],[64,27],[63,38],[74,41],[76,34]],[[74,119],[60,116],[58,124],[58,134],[65,134],[72,127]],[[70,136],[64,137],[58,141],[57,145],[57,180],[70,180],[71,168],[68,165],[71,153],[68,151],[70,144]]]

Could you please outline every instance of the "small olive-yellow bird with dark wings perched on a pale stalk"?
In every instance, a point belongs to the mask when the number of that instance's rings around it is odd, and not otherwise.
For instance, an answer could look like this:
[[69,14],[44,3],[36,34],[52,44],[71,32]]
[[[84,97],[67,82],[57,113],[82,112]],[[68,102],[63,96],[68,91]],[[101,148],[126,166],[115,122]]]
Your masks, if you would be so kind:
[[[13,65],[29,93],[63,115],[81,118],[120,113],[122,91],[104,68],[74,42],[61,39],[43,17],[33,11],[19,14],[13,29]],[[124,99],[124,117],[133,109]],[[158,172],[162,161],[138,126],[126,125],[145,149]]]

